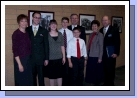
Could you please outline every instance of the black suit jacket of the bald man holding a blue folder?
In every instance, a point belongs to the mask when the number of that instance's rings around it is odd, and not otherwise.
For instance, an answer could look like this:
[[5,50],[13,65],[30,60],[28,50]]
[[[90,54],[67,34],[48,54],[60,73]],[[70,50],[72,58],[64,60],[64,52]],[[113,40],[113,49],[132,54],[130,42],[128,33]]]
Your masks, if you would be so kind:
[[[104,35],[103,28],[104,27],[100,29],[100,32]],[[110,25],[104,37],[104,53],[107,53],[106,46],[111,46],[111,45],[114,46],[114,53],[119,56],[120,54],[120,34],[117,28]]]

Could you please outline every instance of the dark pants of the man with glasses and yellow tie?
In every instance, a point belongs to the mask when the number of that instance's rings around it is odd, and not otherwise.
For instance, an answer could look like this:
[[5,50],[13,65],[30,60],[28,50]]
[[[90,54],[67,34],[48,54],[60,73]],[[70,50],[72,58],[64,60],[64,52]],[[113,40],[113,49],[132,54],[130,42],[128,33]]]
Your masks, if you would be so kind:
[[[38,75],[38,83],[39,86],[44,86],[44,75],[43,75],[43,70],[44,70],[44,65],[39,65],[35,63],[35,60],[31,61],[32,63],[32,74],[33,74],[33,82],[34,86],[37,86],[37,79],[36,76]],[[44,62],[43,62],[44,64]]]

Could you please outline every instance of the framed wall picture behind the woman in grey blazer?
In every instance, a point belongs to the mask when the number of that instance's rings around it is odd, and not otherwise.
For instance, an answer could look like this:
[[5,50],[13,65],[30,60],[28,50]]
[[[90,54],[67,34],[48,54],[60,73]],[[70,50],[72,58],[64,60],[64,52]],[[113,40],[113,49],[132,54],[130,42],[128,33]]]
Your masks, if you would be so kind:
[[[89,19],[89,16],[91,16],[91,19]],[[85,26],[85,32],[86,32],[86,34],[90,34],[90,33],[92,33],[91,22],[96,19],[96,15],[93,15],[93,14],[79,14],[79,25],[80,26],[83,26],[82,22],[81,22],[81,19],[83,17],[88,19],[88,22],[85,22],[85,23],[89,23],[89,26],[88,27]],[[92,19],[92,18],[94,18],[94,19]],[[85,19],[85,20],[87,20],[87,19]]]

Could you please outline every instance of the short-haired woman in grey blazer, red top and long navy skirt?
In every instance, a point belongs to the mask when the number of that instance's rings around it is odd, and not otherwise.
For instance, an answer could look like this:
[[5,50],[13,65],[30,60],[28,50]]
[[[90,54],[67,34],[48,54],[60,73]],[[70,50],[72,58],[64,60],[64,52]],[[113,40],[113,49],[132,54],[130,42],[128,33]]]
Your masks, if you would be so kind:
[[88,60],[86,66],[85,82],[93,85],[100,85],[103,82],[103,34],[99,32],[100,22],[93,20],[91,27],[93,33],[89,36],[88,41]]

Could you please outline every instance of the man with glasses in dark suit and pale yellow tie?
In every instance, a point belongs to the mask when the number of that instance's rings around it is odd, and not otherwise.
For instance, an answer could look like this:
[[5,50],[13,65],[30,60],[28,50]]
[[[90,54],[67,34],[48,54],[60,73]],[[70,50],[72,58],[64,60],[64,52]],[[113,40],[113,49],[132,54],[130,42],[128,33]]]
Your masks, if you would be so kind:
[[31,40],[31,65],[34,86],[37,86],[37,75],[39,86],[44,86],[43,67],[48,65],[49,60],[48,31],[39,26],[40,19],[41,13],[34,12],[32,14],[32,26],[26,29]]

